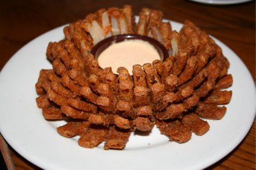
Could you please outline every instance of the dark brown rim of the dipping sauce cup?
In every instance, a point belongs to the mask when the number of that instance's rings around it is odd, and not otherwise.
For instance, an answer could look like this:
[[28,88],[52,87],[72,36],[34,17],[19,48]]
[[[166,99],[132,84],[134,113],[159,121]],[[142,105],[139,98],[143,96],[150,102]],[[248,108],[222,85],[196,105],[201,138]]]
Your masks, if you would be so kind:
[[145,42],[150,43],[157,50],[162,62],[169,56],[168,50],[164,47],[164,45],[161,42],[149,36],[143,36],[143,35],[137,35],[137,34],[123,34],[123,35],[109,36],[108,38],[105,38],[104,40],[101,40],[96,45],[94,45],[90,53],[95,57],[95,59],[98,59],[98,57],[100,56],[100,53],[103,52],[105,49],[107,49],[111,44],[123,42],[125,40],[143,40]]

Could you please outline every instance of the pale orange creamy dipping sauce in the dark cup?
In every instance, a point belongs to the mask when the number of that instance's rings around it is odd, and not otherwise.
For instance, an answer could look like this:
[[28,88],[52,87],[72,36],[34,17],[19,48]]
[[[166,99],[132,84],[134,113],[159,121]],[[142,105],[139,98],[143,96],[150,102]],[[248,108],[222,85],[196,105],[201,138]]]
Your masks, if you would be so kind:
[[156,48],[143,40],[125,40],[113,43],[102,51],[98,58],[101,68],[112,67],[113,73],[120,66],[124,66],[132,75],[133,65],[143,65],[161,59]]

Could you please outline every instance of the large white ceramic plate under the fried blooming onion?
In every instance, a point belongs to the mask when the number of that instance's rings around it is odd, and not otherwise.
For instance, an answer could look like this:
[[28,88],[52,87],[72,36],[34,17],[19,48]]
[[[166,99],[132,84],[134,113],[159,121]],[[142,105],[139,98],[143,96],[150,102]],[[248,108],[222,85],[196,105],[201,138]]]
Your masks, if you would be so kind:
[[[173,29],[182,24],[172,22]],[[170,142],[154,127],[149,135],[132,134],[124,150],[104,150],[103,144],[86,149],[77,138],[61,137],[63,121],[45,121],[36,107],[35,83],[47,44],[63,38],[58,27],[35,38],[6,63],[0,74],[0,130],[4,139],[24,158],[43,169],[203,169],[232,151],[250,130],[255,118],[255,86],[244,63],[216,40],[230,61],[234,77],[232,100],[222,120],[209,121],[209,132],[193,134],[184,144]]]

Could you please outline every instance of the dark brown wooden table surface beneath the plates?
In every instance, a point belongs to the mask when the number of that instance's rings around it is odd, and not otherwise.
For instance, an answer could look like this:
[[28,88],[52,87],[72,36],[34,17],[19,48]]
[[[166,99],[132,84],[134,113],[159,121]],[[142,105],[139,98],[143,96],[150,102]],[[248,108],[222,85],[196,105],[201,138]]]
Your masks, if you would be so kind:
[[[83,19],[99,8],[124,4],[131,4],[136,15],[142,7],[148,7],[163,11],[165,19],[193,21],[234,50],[255,82],[255,1],[230,5],[185,0],[3,1],[0,6],[0,70],[17,50],[36,36]],[[16,169],[38,169],[11,147],[10,151]],[[255,121],[241,144],[209,169],[255,169]]]

